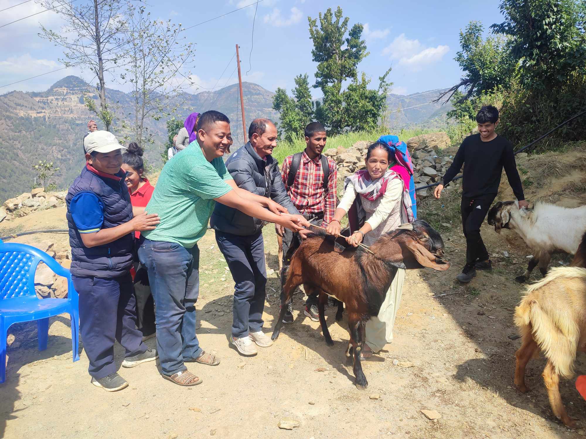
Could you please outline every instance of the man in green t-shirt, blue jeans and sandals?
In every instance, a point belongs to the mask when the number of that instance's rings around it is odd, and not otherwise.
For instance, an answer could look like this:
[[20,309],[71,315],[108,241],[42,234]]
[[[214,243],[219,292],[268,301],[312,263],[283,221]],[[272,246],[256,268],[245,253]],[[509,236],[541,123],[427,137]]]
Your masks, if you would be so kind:
[[[202,382],[183,362],[218,365],[220,360],[199,347],[195,334],[195,303],[199,295],[199,249],[216,201],[254,218],[293,231],[309,227],[301,215],[270,198],[240,189],[227,172],[222,156],[232,143],[230,120],[218,111],[206,111],[197,121],[197,143],[173,156],[163,167],[145,210],[161,222],[143,232],[138,249],[147,267],[155,298],[156,344],[163,378],[182,386]],[[199,144],[199,145],[198,145]]]

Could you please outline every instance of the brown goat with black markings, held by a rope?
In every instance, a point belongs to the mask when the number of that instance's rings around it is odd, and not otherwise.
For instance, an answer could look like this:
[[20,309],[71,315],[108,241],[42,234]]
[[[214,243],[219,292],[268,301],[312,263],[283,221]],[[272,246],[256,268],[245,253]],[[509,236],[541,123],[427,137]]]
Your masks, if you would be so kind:
[[[330,237],[331,238],[331,237]],[[328,296],[346,304],[350,341],[346,355],[353,351],[356,387],[366,389],[368,382],[362,372],[360,351],[364,340],[364,324],[379,314],[380,306],[389,289],[397,268],[414,269],[431,267],[447,270],[449,262],[441,259],[444,242],[440,234],[427,222],[415,221],[381,236],[370,249],[341,248],[324,232],[309,235],[291,258],[284,282],[281,314],[272,333],[275,340],[280,334],[286,304],[295,288],[306,284],[319,291],[319,321],[326,344],[333,345],[323,313]]]

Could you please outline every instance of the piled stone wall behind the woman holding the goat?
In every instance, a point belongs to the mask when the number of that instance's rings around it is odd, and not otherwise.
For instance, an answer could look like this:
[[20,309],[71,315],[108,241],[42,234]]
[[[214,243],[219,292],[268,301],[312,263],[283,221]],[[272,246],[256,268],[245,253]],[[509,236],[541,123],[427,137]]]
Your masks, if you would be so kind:
[[[338,176],[345,178],[359,169],[364,169],[366,150],[375,140],[360,140],[350,148],[330,148],[323,153],[336,160]],[[407,139],[407,148],[413,159],[415,187],[441,181],[448,167],[452,164],[453,156],[444,149],[451,146],[447,133],[437,132],[424,134]],[[458,187],[459,180],[450,183],[452,187]],[[431,196],[432,188],[417,191],[417,197],[421,200]]]

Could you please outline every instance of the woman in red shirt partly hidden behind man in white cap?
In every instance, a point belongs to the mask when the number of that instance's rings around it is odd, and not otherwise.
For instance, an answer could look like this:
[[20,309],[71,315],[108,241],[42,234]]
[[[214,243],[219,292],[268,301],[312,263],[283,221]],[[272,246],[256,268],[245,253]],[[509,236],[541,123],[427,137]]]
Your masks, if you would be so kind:
[[[127,152],[122,155],[122,170],[126,172],[126,186],[130,191],[132,207],[147,207],[151,200],[154,186],[143,176],[144,162],[142,148],[136,142],[128,145]],[[135,232],[135,249],[141,242],[140,232]],[[136,253],[136,252],[135,252]],[[138,261],[138,258],[135,258]],[[137,327],[142,332],[142,339],[155,337],[155,306],[148,282],[147,270],[135,262],[134,295],[137,301]]]

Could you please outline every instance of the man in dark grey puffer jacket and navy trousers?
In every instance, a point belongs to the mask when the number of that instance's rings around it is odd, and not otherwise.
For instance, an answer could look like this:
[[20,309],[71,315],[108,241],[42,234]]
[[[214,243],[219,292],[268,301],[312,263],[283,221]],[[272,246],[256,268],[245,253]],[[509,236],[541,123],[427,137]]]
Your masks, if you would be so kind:
[[[277,146],[275,125],[269,119],[254,119],[248,128],[248,139],[226,162],[238,187],[270,197],[289,214],[299,214],[287,194],[278,162],[271,156]],[[267,284],[263,221],[217,203],[210,225],[236,283],[231,344],[242,355],[256,355],[254,343],[263,348],[272,345],[262,331]]]

